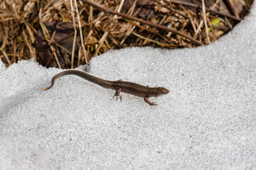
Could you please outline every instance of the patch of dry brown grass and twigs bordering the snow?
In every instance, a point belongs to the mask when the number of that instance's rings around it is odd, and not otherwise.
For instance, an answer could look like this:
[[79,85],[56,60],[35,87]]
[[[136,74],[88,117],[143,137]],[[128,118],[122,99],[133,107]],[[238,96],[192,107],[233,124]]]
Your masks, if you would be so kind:
[[228,33],[252,4],[193,2],[0,0],[0,57],[6,66],[33,58],[46,67],[73,68],[110,49],[207,45]]

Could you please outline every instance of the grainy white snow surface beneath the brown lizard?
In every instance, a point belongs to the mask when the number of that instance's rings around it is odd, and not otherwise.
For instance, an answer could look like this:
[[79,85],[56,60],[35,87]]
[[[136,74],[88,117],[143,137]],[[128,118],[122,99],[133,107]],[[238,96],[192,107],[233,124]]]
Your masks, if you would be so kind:
[[204,47],[132,47],[77,69],[164,86],[149,106],[46,69],[0,61],[0,169],[256,169],[256,8]]

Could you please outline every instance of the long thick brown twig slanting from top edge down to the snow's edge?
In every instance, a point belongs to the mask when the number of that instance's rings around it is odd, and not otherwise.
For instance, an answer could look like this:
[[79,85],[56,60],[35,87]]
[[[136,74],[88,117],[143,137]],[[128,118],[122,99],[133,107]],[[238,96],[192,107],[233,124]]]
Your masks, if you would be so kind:
[[119,13],[119,12],[116,12],[116,11],[112,11],[110,8],[105,8],[104,6],[101,6],[100,4],[97,4],[97,3],[93,2],[93,1],[89,1],[89,0],[82,0],[82,1],[87,3],[87,4],[90,4],[91,6],[94,6],[95,8],[99,8],[100,10],[105,11],[106,13],[111,13],[111,14],[114,14],[114,15],[117,15],[117,16],[122,16],[123,18],[127,18],[129,20],[138,21],[139,23],[144,23],[146,25],[149,25],[149,26],[154,27],[154,28],[159,28],[161,30],[171,31],[172,33],[181,35],[184,38],[187,38],[188,40],[191,40],[192,42],[195,42],[198,45],[203,45],[202,42],[200,42],[200,41],[198,41],[198,40],[196,40],[194,38],[191,38],[190,36],[188,36],[188,35],[186,35],[184,33],[181,33],[178,30],[174,30],[174,29],[168,28],[166,26],[160,26],[160,25],[158,25],[156,23],[151,23],[149,21],[144,21],[144,20],[142,20],[140,18],[136,18],[136,17],[133,17],[133,16],[128,16],[127,14],[124,14],[124,13]]

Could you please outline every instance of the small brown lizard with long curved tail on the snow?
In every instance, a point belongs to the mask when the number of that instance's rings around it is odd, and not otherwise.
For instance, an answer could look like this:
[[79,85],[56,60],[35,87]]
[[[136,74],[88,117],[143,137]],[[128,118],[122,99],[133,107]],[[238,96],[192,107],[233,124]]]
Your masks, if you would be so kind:
[[149,103],[150,106],[152,106],[157,104],[149,101],[149,97],[158,97],[158,96],[162,96],[164,94],[169,93],[169,90],[165,89],[164,87],[142,86],[140,84],[132,83],[129,81],[122,81],[122,80],[108,81],[105,79],[93,77],[90,74],[87,74],[85,72],[80,72],[78,70],[68,70],[68,71],[64,71],[64,72],[60,72],[59,74],[56,74],[52,79],[52,84],[44,90],[48,90],[52,88],[54,85],[55,79],[58,79],[59,77],[63,77],[65,75],[75,75],[78,77],[82,77],[83,79],[87,79],[87,81],[91,81],[92,83],[102,86],[106,89],[113,89],[116,91],[114,96],[117,96],[117,97],[119,96],[121,101],[122,101],[122,96],[120,96],[119,94],[122,91],[127,94],[143,97],[144,101],[146,103]]

